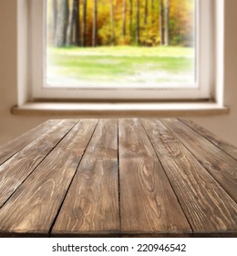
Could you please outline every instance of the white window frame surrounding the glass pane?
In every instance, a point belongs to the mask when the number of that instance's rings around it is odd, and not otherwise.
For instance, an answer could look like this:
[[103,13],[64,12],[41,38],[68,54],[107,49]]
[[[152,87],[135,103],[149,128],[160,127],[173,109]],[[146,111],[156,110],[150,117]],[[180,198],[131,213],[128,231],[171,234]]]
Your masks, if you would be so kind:
[[196,84],[194,86],[147,87],[146,88],[62,88],[45,85],[45,5],[46,0],[30,1],[31,84],[33,99],[109,99],[109,100],[200,100],[211,98],[214,80],[214,38],[213,17],[215,8],[212,0],[197,1],[196,39]]

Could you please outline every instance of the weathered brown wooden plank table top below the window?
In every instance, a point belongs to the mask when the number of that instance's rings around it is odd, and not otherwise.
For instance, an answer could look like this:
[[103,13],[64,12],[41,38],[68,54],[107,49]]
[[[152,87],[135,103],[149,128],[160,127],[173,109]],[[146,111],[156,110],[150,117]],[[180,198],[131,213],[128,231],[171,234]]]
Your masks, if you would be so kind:
[[237,236],[237,148],[180,119],[49,120],[0,147],[0,236]]

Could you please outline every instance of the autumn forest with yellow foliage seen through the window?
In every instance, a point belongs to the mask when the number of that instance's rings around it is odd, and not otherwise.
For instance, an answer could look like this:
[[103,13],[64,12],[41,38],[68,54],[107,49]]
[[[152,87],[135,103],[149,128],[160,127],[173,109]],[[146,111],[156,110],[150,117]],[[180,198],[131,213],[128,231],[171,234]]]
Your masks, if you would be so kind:
[[48,0],[46,7],[52,46],[193,44],[195,0]]

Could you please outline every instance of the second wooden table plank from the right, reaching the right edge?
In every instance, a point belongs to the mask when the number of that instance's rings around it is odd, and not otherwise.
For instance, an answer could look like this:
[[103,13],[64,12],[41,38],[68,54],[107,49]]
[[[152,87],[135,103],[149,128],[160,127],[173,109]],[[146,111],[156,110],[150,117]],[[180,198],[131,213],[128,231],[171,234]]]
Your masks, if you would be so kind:
[[237,161],[177,119],[164,123],[237,202]]

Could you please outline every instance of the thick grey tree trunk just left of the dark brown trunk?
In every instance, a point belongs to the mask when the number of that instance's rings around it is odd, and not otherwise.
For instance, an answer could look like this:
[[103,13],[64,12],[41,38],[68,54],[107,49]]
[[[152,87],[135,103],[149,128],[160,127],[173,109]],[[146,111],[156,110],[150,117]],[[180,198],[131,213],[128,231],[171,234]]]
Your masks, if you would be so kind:
[[58,14],[57,14],[57,32],[56,32],[57,47],[63,47],[66,44],[67,20],[68,20],[67,0],[59,0]]

